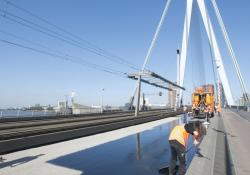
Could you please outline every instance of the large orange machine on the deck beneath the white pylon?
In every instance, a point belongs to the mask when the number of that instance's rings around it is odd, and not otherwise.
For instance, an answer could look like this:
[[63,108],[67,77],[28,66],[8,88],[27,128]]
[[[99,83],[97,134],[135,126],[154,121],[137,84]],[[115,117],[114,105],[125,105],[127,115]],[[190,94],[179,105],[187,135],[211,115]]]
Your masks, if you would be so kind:
[[197,117],[213,117],[215,107],[214,86],[196,87],[192,94],[192,112]]

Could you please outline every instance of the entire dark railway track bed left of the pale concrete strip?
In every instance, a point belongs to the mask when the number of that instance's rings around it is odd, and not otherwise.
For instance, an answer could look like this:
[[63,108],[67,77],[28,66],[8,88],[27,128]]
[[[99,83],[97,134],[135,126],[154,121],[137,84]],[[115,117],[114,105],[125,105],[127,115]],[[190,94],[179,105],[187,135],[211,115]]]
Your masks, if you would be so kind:
[[0,154],[97,134],[127,126],[175,116],[182,112],[166,110],[72,117],[60,120],[7,122],[0,126]]

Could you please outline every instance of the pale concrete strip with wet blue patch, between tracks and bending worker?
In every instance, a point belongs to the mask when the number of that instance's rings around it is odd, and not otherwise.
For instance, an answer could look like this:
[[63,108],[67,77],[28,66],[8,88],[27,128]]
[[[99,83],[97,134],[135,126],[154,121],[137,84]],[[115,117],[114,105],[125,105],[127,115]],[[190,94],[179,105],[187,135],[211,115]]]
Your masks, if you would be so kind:
[[169,159],[178,117],[3,155],[1,175],[150,174]]

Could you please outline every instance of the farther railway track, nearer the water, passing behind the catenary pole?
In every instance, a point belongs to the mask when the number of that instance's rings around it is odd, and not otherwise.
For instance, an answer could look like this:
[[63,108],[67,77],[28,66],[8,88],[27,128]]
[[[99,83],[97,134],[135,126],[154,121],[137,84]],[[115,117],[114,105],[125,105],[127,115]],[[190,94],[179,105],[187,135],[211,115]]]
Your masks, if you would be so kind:
[[[144,112],[140,117],[157,116],[166,114],[166,111]],[[2,126],[0,128],[0,140],[13,139],[18,137],[31,136],[36,134],[44,134],[47,132],[63,131],[68,129],[77,129],[82,127],[98,126],[117,121],[134,120],[135,117],[131,114],[113,115],[106,117],[89,117],[89,118],[71,118],[61,121],[40,121],[30,123],[11,124],[11,126]]]

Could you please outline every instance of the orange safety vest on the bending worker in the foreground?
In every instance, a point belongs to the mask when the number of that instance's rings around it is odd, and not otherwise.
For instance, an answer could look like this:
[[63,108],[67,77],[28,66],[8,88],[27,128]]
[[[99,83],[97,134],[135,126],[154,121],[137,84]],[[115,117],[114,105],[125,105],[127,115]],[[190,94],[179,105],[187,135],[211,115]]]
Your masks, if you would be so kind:
[[182,144],[184,147],[186,147],[188,137],[189,137],[189,133],[185,130],[184,125],[177,125],[171,131],[168,140],[176,140],[180,144]]

